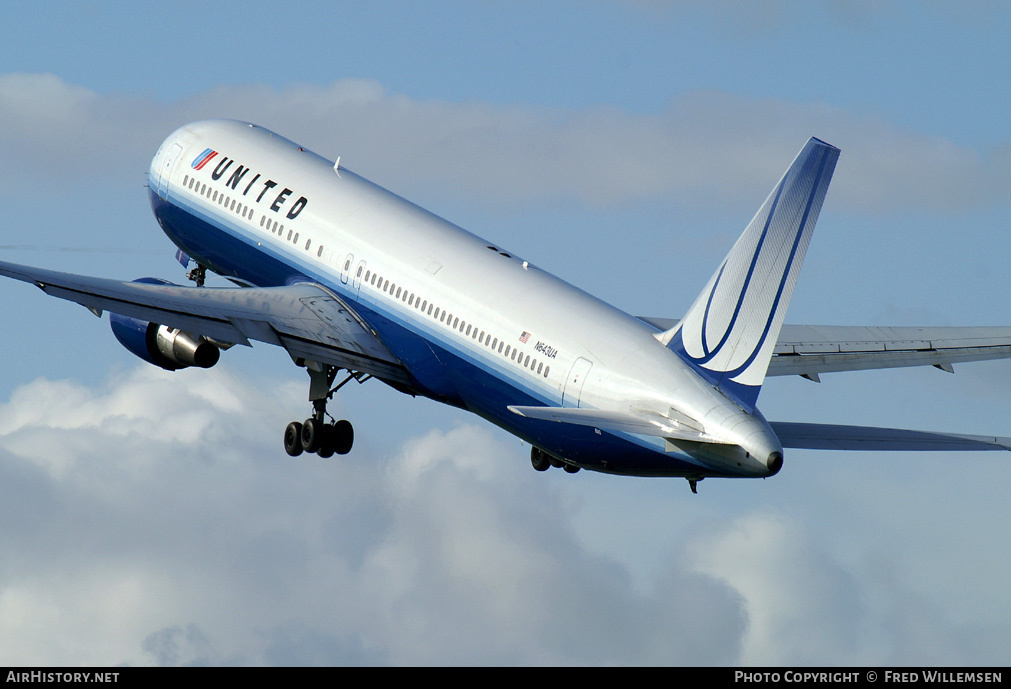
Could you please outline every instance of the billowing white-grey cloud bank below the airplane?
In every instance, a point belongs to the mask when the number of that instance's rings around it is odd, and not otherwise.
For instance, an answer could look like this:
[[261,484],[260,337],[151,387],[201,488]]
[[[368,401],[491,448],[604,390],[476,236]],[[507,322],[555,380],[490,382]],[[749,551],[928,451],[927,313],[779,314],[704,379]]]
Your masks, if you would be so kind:
[[578,534],[581,475],[546,481],[484,427],[292,461],[300,386],[181,373],[39,379],[0,406],[0,662],[974,664],[1008,638],[789,512],[640,524],[680,535],[636,583]]

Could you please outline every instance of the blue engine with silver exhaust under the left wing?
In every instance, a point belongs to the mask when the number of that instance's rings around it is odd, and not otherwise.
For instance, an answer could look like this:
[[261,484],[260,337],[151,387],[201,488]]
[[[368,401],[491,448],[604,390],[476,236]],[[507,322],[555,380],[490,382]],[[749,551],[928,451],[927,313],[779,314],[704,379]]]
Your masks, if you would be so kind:
[[[172,284],[158,278],[142,278],[134,282]],[[221,355],[220,350],[203,335],[191,334],[167,325],[118,313],[109,313],[109,325],[120,344],[149,364],[167,371],[190,366],[209,369]]]

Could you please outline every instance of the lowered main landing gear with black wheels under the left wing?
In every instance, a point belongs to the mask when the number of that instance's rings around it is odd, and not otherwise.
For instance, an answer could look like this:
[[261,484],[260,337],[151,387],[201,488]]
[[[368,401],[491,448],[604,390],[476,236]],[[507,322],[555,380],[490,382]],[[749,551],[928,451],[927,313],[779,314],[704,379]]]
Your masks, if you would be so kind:
[[[314,453],[319,457],[347,455],[355,444],[355,429],[350,421],[334,419],[327,412],[327,401],[351,381],[364,383],[371,376],[359,372],[349,372],[348,377],[335,387],[337,367],[328,364],[306,363],[309,372],[309,399],[312,401],[312,416],[301,423],[292,421],[284,429],[284,452],[291,457],[304,453]],[[327,422],[330,416],[333,423]]]

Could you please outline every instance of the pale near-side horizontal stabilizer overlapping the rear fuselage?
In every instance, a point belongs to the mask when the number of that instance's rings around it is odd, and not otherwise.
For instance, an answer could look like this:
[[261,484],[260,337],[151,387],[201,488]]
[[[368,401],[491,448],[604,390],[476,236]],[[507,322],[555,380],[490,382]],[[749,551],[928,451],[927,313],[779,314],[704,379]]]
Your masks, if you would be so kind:
[[592,426],[601,430],[654,435],[693,442],[720,442],[716,437],[690,425],[688,422],[678,422],[653,411],[607,411],[573,407],[523,406],[511,406],[509,410],[527,418]]

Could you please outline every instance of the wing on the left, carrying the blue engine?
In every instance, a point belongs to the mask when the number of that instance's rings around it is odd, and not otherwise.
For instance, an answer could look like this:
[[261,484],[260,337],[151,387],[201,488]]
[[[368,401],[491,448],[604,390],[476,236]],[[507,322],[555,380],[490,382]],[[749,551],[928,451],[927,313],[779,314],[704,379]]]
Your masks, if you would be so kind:
[[341,299],[320,285],[181,287],[59,273],[0,262],[0,275],[94,313],[111,311],[222,342],[256,339],[309,360],[410,383],[404,367]]

